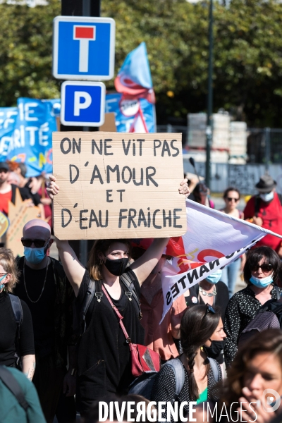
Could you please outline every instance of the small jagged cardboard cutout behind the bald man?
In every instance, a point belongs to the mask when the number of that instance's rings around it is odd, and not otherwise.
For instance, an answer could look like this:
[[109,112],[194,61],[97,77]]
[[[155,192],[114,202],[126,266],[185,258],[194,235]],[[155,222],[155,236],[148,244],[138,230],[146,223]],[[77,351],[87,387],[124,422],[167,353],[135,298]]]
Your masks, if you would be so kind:
[[22,200],[20,191],[16,190],[15,204],[8,203],[8,218],[10,226],[6,236],[6,247],[11,248],[15,257],[23,255],[23,244],[20,238],[23,236],[23,226],[31,219],[39,219],[39,207],[30,207],[31,200]]

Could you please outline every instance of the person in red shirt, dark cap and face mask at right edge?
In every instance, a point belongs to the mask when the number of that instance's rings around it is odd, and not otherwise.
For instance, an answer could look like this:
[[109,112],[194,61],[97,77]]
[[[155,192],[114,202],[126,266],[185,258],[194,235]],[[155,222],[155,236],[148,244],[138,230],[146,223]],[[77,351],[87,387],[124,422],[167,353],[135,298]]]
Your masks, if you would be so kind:
[[[250,198],[244,210],[244,219],[262,228],[282,235],[282,196],[277,194],[276,181],[267,173],[263,175],[255,187],[258,195]],[[273,248],[282,258],[281,239],[274,235],[266,235],[256,246],[266,245]]]

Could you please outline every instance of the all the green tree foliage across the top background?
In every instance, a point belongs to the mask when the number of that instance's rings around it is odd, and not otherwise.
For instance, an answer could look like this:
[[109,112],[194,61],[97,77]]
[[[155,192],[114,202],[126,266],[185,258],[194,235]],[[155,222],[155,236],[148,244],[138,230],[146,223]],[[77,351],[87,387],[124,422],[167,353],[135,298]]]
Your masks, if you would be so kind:
[[[204,111],[207,99],[209,2],[101,0],[102,16],[116,20],[116,72],[145,41],[157,94],[158,123]],[[0,4],[0,105],[17,97],[54,98],[52,20],[48,6]],[[281,127],[282,4],[231,0],[214,6],[214,111],[231,111],[248,125]],[[107,82],[114,90],[114,80]]]

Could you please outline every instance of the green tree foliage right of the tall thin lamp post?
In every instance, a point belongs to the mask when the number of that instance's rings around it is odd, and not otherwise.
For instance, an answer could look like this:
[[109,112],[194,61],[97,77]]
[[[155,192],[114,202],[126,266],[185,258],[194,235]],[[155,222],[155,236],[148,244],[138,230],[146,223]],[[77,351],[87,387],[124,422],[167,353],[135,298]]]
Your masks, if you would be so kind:
[[282,4],[233,0],[215,20],[216,106],[249,125],[281,127]]

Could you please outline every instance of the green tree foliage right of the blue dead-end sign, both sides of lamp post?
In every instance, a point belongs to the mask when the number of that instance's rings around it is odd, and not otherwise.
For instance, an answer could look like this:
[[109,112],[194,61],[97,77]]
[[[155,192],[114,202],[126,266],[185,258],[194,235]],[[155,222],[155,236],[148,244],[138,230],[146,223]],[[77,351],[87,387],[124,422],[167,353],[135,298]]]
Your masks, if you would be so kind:
[[[282,4],[214,3],[214,110],[249,125],[281,126]],[[102,7],[116,19],[118,64],[147,43],[159,121],[206,109],[208,1],[102,0]]]

